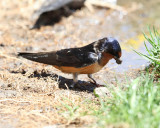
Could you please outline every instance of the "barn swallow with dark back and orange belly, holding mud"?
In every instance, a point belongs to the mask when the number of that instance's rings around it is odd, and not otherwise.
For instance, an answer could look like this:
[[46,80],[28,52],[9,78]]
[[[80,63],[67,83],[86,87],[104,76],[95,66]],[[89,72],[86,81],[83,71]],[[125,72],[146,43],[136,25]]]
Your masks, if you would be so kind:
[[91,74],[101,70],[112,58],[121,64],[121,47],[119,42],[112,38],[103,38],[80,48],[62,49],[52,52],[19,53],[26,59],[43,64],[53,65],[64,73],[73,74],[73,85],[78,81],[78,74],[88,74],[96,84]]

